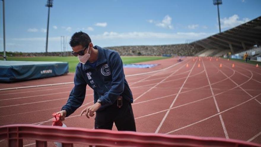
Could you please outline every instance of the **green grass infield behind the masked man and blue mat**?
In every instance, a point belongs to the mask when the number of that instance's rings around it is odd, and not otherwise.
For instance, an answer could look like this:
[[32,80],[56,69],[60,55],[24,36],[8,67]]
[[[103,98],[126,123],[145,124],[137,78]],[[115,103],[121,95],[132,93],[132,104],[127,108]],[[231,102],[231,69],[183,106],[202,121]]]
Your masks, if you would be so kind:
[[[121,56],[123,64],[131,64],[152,60],[166,59],[168,57],[161,56]],[[3,60],[3,58],[0,58]],[[63,61],[69,63],[69,72],[75,72],[75,67],[79,63],[77,57],[57,57],[57,56],[43,56],[43,57],[7,57],[9,61]]]

